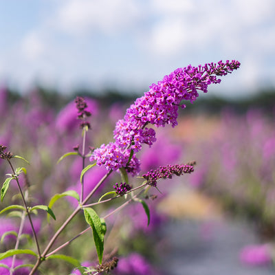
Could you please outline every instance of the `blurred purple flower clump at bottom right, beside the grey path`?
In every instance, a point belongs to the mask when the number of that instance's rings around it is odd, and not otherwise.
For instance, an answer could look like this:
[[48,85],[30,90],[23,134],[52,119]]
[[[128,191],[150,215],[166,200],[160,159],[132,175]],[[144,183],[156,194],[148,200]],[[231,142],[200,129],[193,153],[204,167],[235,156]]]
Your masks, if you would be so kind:
[[264,245],[248,245],[240,252],[240,260],[246,265],[267,265],[272,263],[270,248]]

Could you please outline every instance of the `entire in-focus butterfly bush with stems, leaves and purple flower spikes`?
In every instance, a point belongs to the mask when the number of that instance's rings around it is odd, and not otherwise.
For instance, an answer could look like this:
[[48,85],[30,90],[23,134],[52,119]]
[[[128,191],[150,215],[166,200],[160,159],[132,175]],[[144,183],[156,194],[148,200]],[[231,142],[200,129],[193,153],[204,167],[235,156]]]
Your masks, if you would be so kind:
[[[144,93],[144,96],[137,98],[135,102],[126,110],[126,114],[122,120],[118,120],[115,124],[115,129],[113,131],[114,142],[110,142],[105,145],[102,144],[100,148],[91,148],[89,147],[90,152],[86,153],[86,143],[87,143],[87,131],[91,129],[91,124],[87,120],[91,116],[91,113],[87,111],[87,102],[84,98],[76,98],[76,109],[77,117],[80,120],[80,129],[82,129],[82,148],[81,152],[79,151],[79,146],[74,146],[74,152],[69,152],[63,155],[60,162],[65,157],[70,155],[77,155],[82,158],[82,171],[80,171],[80,194],[74,190],[67,190],[61,194],[56,194],[50,200],[48,206],[38,205],[30,207],[27,204],[28,192],[23,194],[21,186],[19,184],[18,176],[19,173],[27,173],[25,168],[17,168],[14,170],[11,159],[14,157],[12,153],[5,152],[6,147],[0,146],[0,157],[5,159],[10,168],[12,169],[12,175],[5,181],[1,188],[1,201],[5,197],[6,192],[9,188],[9,183],[12,179],[17,181],[17,186],[21,193],[23,199],[24,210],[22,212],[21,223],[24,222],[24,214],[26,213],[30,224],[32,227],[32,232],[34,235],[34,242],[36,243],[37,254],[32,250],[19,250],[19,237],[21,235],[21,228],[19,229],[19,234],[17,235],[17,243],[14,250],[8,250],[0,254],[0,260],[5,259],[9,256],[14,256],[13,262],[17,254],[32,254],[36,256],[36,263],[32,266],[30,275],[35,274],[40,267],[41,263],[50,259],[61,259],[72,263],[73,265],[79,266],[80,263],[73,259],[70,256],[56,254],[62,248],[72,243],[79,236],[83,235],[85,232],[91,230],[93,232],[94,243],[96,246],[96,252],[98,254],[98,263],[94,271],[90,270],[90,274],[100,274],[101,272],[109,272],[113,270],[114,267],[118,264],[118,259],[113,258],[109,261],[103,262],[103,251],[104,251],[104,235],[106,234],[107,228],[105,224],[105,219],[109,218],[115,212],[122,210],[129,205],[129,203],[135,201],[142,203],[146,216],[148,218],[148,224],[150,223],[150,210],[146,202],[141,199],[142,195],[151,187],[157,187],[157,181],[160,179],[171,179],[173,175],[184,175],[186,173],[192,173],[194,170],[195,162],[190,162],[188,164],[181,165],[168,165],[160,166],[157,170],[150,170],[147,173],[144,173],[142,176],[145,181],[137,187],[132,187],[129,184],[128,175],[133,177],[140,173],[140,159],[137,158],[137,152],[141,151],[143,144],[152,144],[156,141],[155,130],[150,128],[150,124],[156,127],[166,126],[170,124],[173,127],[177,125],[177,115],[178,109],[184,109],[186,106],[183,104],[184,100],[189,100],[194,102],[199,96],[198,90],[206,93],[208,91],[208,85],[220,83],[220,79],[217,76],[225,76],[230,74],[234,69],[238,69],[240,63],[238,61],[226,61],[225,63],[219,62],[217,64],[210,63],[204,66],[199,65],[198,67],[188,67],[176,69],[175,72],[171,73],[168,76],[164,76],[164,79],[159,81],[157,84],[150,86],[149,91]],[[18,157],[18,156],[17,156]],[[89,157],[89,160],[93,162],[86,166],[85,160]],[[23,157],[19,157],[23,158]],[[85,173],[88,170],[94,168],[94,166],[104,166],[107,171],[105,175],[98,181],[96,186],[85,195],[84,186],[85,186]],[[96,191],[104,184],[107,178],[114,171],[120,171],[121,182],[120,184],[116,183],[113,185],[115,190],[109,191],[100,197],[99,201],[93,201],[88,203],[88,201],[94,197]],[[134,194],[135,190],[138,190]],[[131,193],[131,197],[127,197],[127,194]],[[105,196],[112,195],[113,197],[109,199],[102,200]],[[32,223],[32,217],[30,212],[40,209],[45,210],[47,214],[50,214],[53,219],[56,219],[54,212],[52,211],[52,206],[54,205],[57,199],[61,197],[74,197],[77,199],[78,206],[74,209],[72,214],[67,217],[67,219],[61,224],[61,226],[56,230],[54,235],[47,241],[47,245],[41,252],[39,239],[34,229]],[[125,201],[121,203],[120,206],[111,210],[108,214],[105,214],[104,217],[100,218],[97,212],[91,208],[91,206],[96,206],[102,203],[107,203],[113,201],[114,199],[123,198]],[[19,206],[16,206],[19,207]],[[19,207],[20,208],[20,207]],[[10,208],[7,208],[8,210]],[[3,210],[2,210],[3,212]],[[76,234],[69,241],[64,242],[59,245],[58,248],[55,248],[50,252],[58,236],[65,230],[67,225],[72,222],[72,219],[76,217],[79,212],[83,212],[85,221],[88,223],[89,228],[81,231]],[[85,267],[80,267],[80,272],[84,272]],[[14,263],[10,268],[10,275],[14,272]]]

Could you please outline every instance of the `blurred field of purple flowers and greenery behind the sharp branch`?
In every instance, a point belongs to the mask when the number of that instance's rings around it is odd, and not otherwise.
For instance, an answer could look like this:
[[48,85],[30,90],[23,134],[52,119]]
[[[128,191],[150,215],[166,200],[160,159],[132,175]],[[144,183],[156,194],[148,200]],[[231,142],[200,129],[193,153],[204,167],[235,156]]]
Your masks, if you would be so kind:
[[[173,131],[169,127],[156,130],[157,142],[150,150],[144,148],[139,153],[141,173],[162,165],[193,160],[197,163],[195,172],[164,180],[159,184],[159,190],[155,189],[148,195],[151,211],[148,226],[141,204],[131,204],[107,219],[107,228],[111,230],[104,250],[107,255],[117,255],[120,259],[113,274],[162,274],[159,251],[163,251],[164,258],[166,253],[166,236],[162,228],[173,224],[175,219],[208,221],[223,217],[245,221],[259,236],[259,243],[243,248],[239,252],[240,261],[248,265],[272,265],[275,254],[274,98],[267,94],[262,95],[261,100],[254,98],[238,103],[217,99],[206,102],[203,99],[199,101],[199,98],[194,107],[187,104],[186,109],[181,111],[179,124]],[[115,122],[124,116],[132,98],[107,94],[102,98],[86,96],[85,99],[92,114],[87,145],[97,148],[111,141]],[[7,89],[0,91],[0,144],[7,145],[13,153],[30,162],[28,176],[21,175],[19,180],[21,186],[30,186],[28,199],[31,204],[47,205],[56,193],[80,191],[77,186],[80,186],[82,159],[69,156],[57,164],[64,153],[73,151],[73,147],[81,142],[76,113],[73,97],[66,98],[42,89],[25,96],[18,96]],[[20,163],[20,159],[17,162]],[[7,173],[10,170],[0,159],[1,182],[5,181]],[[102,167],[87,172],[84,193],[88,194],[104,173]],[[97,198],[111,190],[118,181],[118,175],[109,177],[97,190]],[[11,188],[14,192],[6,195],[0,211],[20,200],[16,195],[17,186],[14,184]],[[57,213],[56,221],[46,222],[47,213],[34,213],[34,226],[41,239],[46,240],[47,235],[53,234],[72,211],[72,206],[76,205],[77,201],[73,198],[56,202],[52,209],[59,207],[63,210]],[[105,207],[109,208],[110,204],[96,206],[96,210],[104,213]],[[44,215],[43,220],[40,219],[41,214]],[[18,230],[18,215],[13,211],[0,216],[0,252],[14,248],[12,232]],[[74,226],[68,225],[64,238],[58,240],[60,245],[69,236],[78,234],[81,228],[85,228],[83,219]],[[30,246],[32,230],[28,222],[23,233],[22,243]],[[179,238],[188,239],[188,236]],[[89,266],[96,259],[94,243],[85,234],[64,250],[83,265]],[[2,260],[2,263],[9,265],[8,259]],[[22,263],[28,263],[28,259],[18,257],[16,265]],[[52,265],[54,273],[50,273]],[[78,270],[73,271],[72,265],[61,261],[49,262],[44,268],[45,274],[80,274]],[[0,274],[5,274],[3,270],[0,267]],[[14,274],[28,274],[28,267],[21,268],[20,272]]]

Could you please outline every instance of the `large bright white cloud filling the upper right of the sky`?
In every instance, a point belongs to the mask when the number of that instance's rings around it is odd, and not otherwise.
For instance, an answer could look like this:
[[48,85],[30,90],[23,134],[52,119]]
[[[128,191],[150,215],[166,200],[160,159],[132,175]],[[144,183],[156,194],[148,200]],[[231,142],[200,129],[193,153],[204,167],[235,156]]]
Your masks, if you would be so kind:
[[[263,32],[263,24],[272,18],[275,2],[272,0],[234,1],[170,1],[153,0],[153,10],[158,19],[141,34],[140,45],[155,58],[173,58],[185,52],[195,51],[236,54],[247,52],[248,43],[257,32]],[[274,45],[274,28],[267,30],[257,43]],[[145,41],[145,43],[144,43]]]

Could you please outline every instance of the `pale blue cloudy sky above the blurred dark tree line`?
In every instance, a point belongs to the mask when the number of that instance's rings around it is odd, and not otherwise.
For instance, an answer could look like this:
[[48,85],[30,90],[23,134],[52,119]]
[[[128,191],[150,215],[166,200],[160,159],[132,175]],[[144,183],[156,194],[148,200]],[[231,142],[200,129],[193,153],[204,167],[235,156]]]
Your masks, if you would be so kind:
[[0,0],[0,84],[146,91],[177,67],[237,59],[211,94],[275,86],[274,0]]

